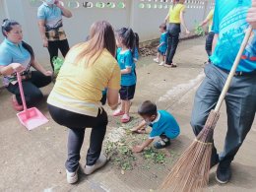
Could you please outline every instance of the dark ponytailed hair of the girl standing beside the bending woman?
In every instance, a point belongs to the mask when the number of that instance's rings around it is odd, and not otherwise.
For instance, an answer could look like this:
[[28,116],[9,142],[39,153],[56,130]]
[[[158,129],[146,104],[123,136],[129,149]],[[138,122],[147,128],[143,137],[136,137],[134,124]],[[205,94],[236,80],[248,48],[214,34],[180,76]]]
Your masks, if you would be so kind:
[[121,37],[122,44],[124,44],[127,48],[129,48],[134,54],[136,37],[133,30],[130,28],[121,28],[116,32],[117,32],[117,35]]

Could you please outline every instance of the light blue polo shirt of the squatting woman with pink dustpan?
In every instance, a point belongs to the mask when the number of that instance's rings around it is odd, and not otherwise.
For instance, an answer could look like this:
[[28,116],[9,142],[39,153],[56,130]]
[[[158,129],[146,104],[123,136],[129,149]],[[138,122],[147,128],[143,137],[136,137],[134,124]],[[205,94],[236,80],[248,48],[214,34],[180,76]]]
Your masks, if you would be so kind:
[[[23,47],[22,42],[15,44],[5,38],[0,44],[0,66],[8,66],[11,63],[20,63],[25,69],[28,69],[30,67],[31,59],[30,52]],[[10,82],[17,82],[15,76],[10,75],[4,77],[5,86],[8,86]]]

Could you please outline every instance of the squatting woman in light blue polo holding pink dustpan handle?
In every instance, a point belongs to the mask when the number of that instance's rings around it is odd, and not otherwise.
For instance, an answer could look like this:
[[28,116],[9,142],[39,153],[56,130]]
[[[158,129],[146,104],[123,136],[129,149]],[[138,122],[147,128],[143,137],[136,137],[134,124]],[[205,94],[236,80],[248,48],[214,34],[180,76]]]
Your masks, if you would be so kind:
[[[4,76],[4,86],[14,94],[14,108],[20,111],[23,105],[16,72],[22,75],[25,99],[29,106],[42,98],[38,88],[51,82],[52,72],[46,71],[34,59],[32,47],[23,41],[22,28],[18,22],[4,20],[2,33],[5,39],[0,44],[0,73]],[[31,71],[31,67],[36,71]]]

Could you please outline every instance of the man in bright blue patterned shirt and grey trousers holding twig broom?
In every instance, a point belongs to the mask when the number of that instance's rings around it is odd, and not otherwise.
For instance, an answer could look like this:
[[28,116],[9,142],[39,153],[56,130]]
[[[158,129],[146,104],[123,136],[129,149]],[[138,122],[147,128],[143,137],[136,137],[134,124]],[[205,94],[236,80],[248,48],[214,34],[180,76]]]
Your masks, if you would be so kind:
[[[256,111],[255,4],[255,0],[216,0],[212,63],[205,67],[206,78],[195,96],[191,125],[197,135],[203,129],[210,110],[216,106],[224,88],[225,80],[249,27],[246,22],[248,15],[247,21],[251,22],[254,31],[225,96],[227,132],[224,151],[218,156],[216,148],[213,148],[211,166],[220,161],[216,174],[220,183],[229,181],[230,163],[249,132]],[[250,9],[251,6],[254,8]]]

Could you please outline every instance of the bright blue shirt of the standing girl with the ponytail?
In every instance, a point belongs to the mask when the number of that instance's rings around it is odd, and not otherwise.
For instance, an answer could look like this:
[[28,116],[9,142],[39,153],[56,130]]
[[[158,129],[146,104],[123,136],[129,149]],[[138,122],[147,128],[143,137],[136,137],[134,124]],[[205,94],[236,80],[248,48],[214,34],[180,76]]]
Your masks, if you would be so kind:
[[117,62],[121,70],[131,68],[131,73],[121,75],[121,86],[133,86],[136,84],[136,76],[134,73],[135,63],[131,50],[122,51],[117,49]]

